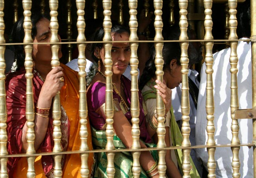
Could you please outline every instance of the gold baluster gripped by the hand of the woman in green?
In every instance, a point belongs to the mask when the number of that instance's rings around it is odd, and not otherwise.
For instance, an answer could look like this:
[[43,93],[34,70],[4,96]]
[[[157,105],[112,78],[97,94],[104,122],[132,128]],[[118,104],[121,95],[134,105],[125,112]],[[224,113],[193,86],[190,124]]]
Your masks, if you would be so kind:
[[[163,82],[163,43],[157,42],[159,40],[163,40],[162,36],[162,30],[163,30],[163,21],[162,21],[162,7],[163,7],[163,1],[162,0],[154,0],[154,8],[155,8],[155,22],[154,27],[156,30],[156,35],[154,38],[154,46],[156,48],[156,79]],[[163,100],[159,94],[156,95],[156,114],[157,114],[157,121],[158,121],[158,127],[157,127],[157,134],[158,134],[158,148],[165,148],[165,105],[163,103]],[[166,171],[166,165],[165,165],[165,154],[166,150],[159,150],[159,162],[158,162],[158,172],[159,177],[163,178],[165,177],[165,171]]]

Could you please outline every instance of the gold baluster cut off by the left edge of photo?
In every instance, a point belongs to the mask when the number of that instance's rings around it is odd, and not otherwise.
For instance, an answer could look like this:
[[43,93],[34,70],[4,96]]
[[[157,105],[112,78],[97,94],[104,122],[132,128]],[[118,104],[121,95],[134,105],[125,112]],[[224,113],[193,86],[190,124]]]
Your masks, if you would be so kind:
[[[5,43],[4,39],[4,0],[0,0],[0,44]],[[7,160],[8,158],[2,158],[1,156],[5,156],[8,154],[6,149],[7,144],[7,113],[6,113],[6,87],[5,87],[5,79],[6,75],[4,71],[6,69],[6,63],[4,59],[4,51],[6,46],[0,46],[0,177],[7,178]]]

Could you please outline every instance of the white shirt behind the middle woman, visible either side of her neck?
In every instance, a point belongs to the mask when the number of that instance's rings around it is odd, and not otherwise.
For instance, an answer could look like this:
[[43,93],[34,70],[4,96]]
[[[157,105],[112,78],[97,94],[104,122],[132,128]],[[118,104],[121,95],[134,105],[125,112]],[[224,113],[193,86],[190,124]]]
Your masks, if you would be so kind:
[[[90,71],[90,67],[91,65],[93,65],[93,63],[91,61],[89,61],[88,59],[86,60],[86,66],[85,66],[85,72],[88,73]],[[79,68],[78,68],[78,59],[73,59],[72,61],[69,61],[67,64],[67,66],[69,66],[71,69],[76,70],[77,72],[79,72]],[[130,74],[132,68],[130,65],[127,66],[126,70],[124,71],[124,76],[126,76],[129,80],[132,80],[132,76]],[[139,72],[139,69],[137,69]],[[138,79],[139,79],[139,74],[138,74]]]

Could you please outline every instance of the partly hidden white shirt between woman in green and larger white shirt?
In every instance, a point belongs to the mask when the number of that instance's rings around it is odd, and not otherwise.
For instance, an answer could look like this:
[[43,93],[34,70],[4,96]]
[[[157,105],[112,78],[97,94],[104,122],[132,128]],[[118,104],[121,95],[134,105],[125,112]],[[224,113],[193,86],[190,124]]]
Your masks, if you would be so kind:
[[[199,88],[199,82],[197,80],[198,72],[196,70],[189,69],[188,73],[189,78],[195,83],[195,85]],[[182,83],[178,87],[175,87],[172,89],[172,105],[173,105],[173,111],[175,115],[176,121],[181,120],[182,113],[181,113],[181,87]],[[192,96],[189,93],[189,103],[190,103],[190,112],[189,112],[189,126],[190,126],[190,135],[189,135],[189,141],[191,143],[191,146],[196,145],[195,141],[195,123],[197,119],[197,109],[195,108],[194,101],[192,99]],[[193,162],[197,168],[197,171],[199,175],[202,175],[202,167],[201,163],[197,160],[197,155],[195,149],[191,149],[190,156],[193,159]]]

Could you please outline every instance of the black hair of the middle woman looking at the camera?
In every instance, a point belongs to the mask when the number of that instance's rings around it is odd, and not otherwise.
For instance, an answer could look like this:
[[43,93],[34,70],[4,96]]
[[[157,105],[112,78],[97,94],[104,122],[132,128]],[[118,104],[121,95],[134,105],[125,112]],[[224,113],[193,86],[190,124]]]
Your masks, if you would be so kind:
[[[130,29],[126,28],[125,26],[122,26],[120,24],[113,25],[112,28],[111,28],[111,32],[112,33],[119,33],[119,34],[126,32],[130,36]],[[93,41],[102,41],[103,37],[104,37],[104,29],[99,28],[96,31],[95,35],[94,35]],[[103,47],[103,43],[93,43],[92,44],[91,56],[93,56],[93,59],[94,59],[95,62],[98,62],[98,58],[94,55],[94,52],[95,52],[96,48],[101,49],[102,47]]]

